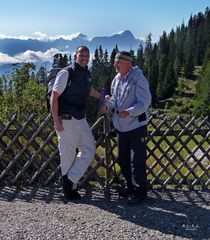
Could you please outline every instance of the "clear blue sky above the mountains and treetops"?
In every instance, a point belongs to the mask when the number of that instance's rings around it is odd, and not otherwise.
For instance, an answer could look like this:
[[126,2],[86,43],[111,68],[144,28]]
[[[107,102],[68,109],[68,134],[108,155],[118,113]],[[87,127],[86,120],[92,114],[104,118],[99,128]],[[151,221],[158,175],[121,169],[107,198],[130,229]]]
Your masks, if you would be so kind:
[[91,38],[130,30],[137,38],[151,32],[157,41],[191,14],[204,13],[210,0],[4,0],[0,6],[0,35],[81,32]]

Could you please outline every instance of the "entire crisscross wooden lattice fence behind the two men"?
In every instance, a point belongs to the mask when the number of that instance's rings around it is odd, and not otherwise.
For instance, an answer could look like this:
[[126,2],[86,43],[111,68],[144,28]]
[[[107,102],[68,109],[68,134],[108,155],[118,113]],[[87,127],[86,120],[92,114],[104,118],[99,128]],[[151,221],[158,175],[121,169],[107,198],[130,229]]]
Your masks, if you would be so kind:
[[[20,124],[13,115],[0,120],[0,184],[41,184],[58,182],[60,160],[51,116],[37,120],[25,117]],[[108,116],[92,126],[97,151],[80,185],[102,187],[122,184],[117,164],[117,141]],[[186,122],[151,116],[147,138],[147,178],[150,187],[195,189],[210,187],[210,122],[208,118]]]

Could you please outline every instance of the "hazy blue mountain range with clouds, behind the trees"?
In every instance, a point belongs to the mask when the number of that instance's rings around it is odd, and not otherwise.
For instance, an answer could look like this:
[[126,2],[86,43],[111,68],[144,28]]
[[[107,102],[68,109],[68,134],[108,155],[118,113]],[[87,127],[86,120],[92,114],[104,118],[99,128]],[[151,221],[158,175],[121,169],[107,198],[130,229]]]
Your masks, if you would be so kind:
[[134,50],[139,45],[145,45],[143,40],[135,38],[129,31],[125,30],[111,36],[96,36],[92,39],[82,33],[72,34],[71,38],[61,36],[58,38],[0,38],[0,75],[12,69],[12,64],[33,62],[35,65],[49,67],[54,54],[66,53],[70,55],[76,47],[85,45],[93,54],[100,45],[110,54],[117,45],[120,50]]

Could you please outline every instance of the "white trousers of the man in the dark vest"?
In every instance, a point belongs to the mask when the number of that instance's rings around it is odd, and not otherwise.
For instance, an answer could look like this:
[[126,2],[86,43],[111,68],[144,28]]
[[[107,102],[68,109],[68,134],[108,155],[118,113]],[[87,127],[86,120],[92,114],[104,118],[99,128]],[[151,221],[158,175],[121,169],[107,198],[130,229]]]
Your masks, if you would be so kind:
[[[64,131],[57,132],[61,173],[77,183],[95,155],[95,140],[85,118],[62,120]],[[76,154],[76,149],[78,153]]]

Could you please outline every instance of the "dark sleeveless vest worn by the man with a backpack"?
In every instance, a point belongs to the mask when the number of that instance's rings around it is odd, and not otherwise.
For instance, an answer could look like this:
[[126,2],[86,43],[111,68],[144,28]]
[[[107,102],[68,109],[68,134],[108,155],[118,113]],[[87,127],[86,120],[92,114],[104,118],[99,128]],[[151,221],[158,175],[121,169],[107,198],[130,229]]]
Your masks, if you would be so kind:
[[82,119],[86,115],[91,90],[90,73],[78,63],[72,68],[67,86],[58,98],[58,111],[59,115],[68,113],[76,119]]

